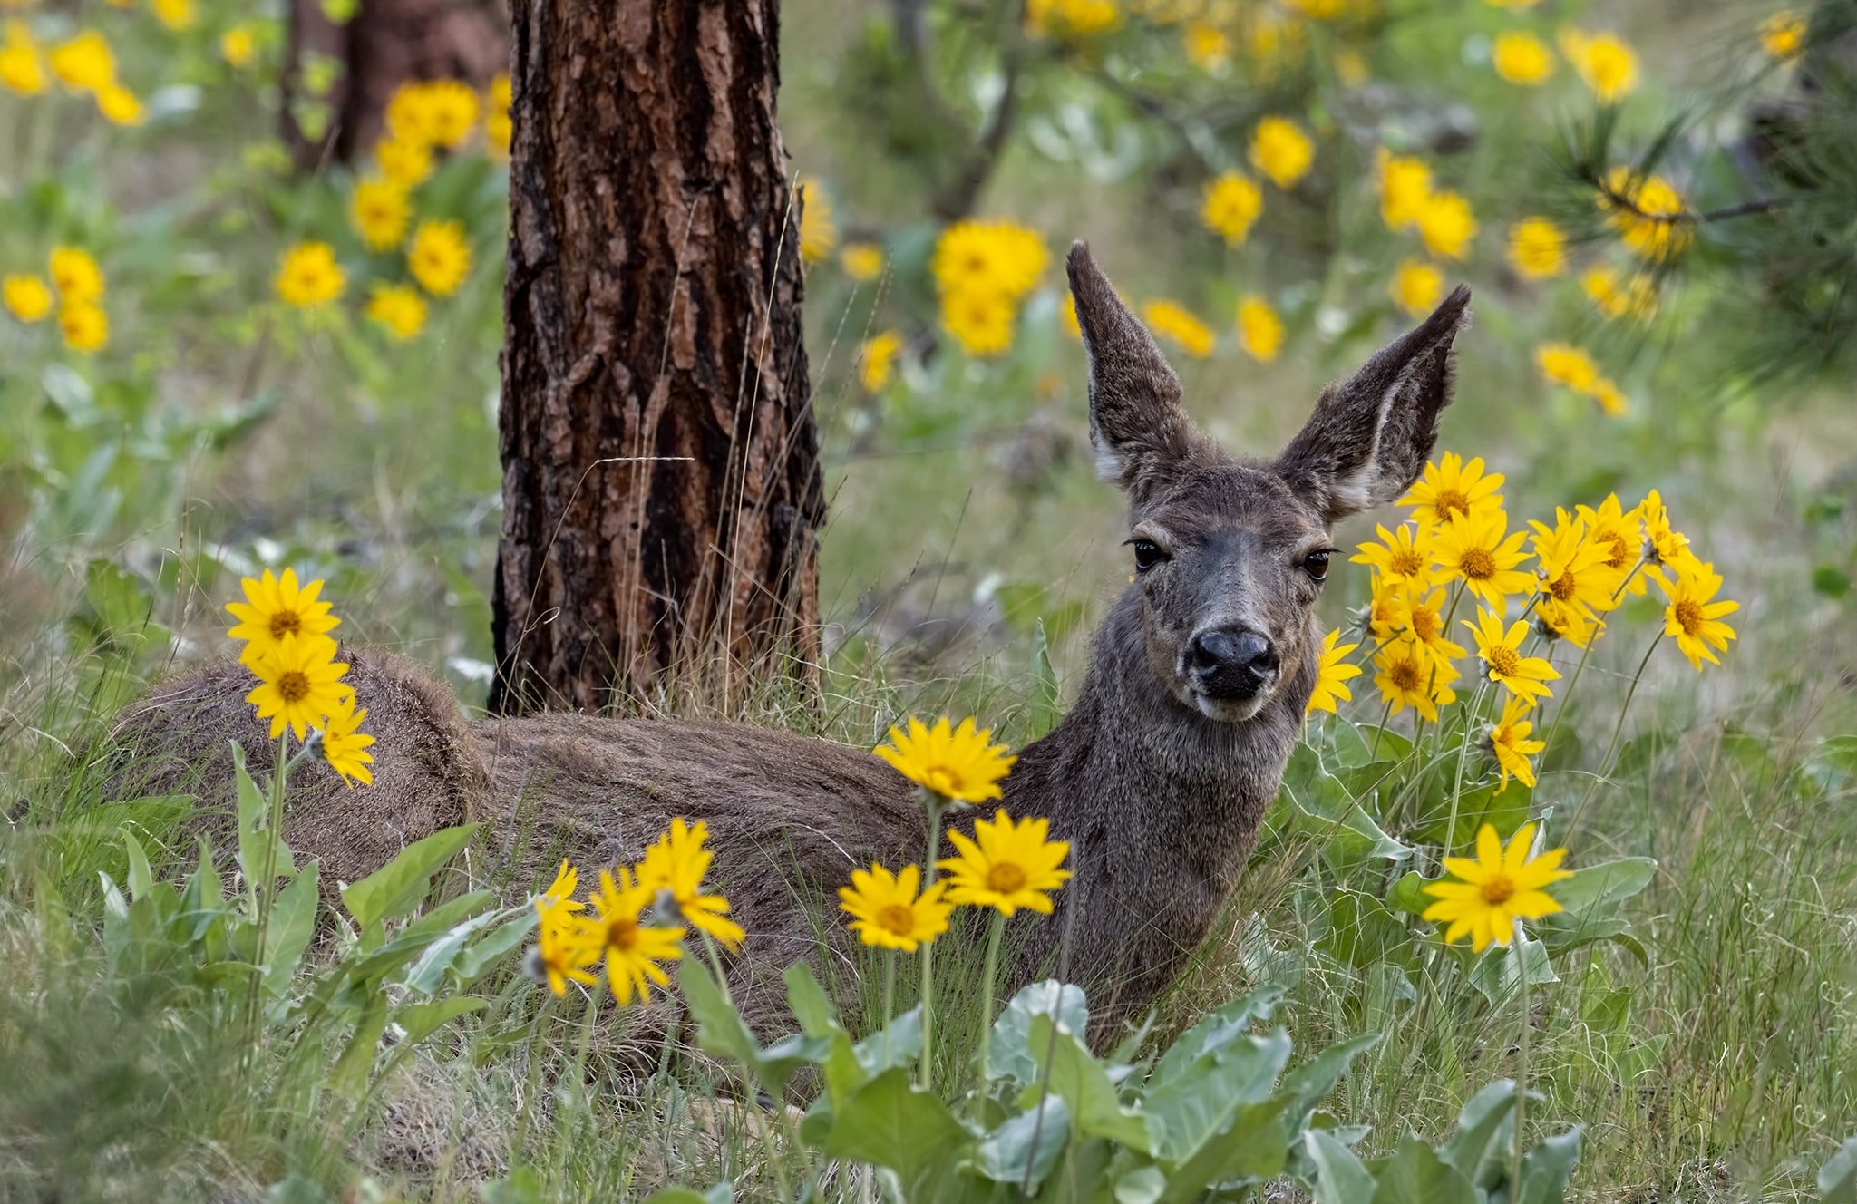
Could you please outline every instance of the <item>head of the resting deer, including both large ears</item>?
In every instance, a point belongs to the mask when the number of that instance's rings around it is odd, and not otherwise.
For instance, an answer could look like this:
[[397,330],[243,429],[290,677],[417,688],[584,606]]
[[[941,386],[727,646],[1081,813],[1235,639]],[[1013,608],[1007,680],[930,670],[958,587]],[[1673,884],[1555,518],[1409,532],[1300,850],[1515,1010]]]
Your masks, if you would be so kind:
[[1281,455],[1246,461],[1187,418],[1179,377],[1083,242],[1070,251],[1070,288],[1090,353],[1097,474],[1129,496],[1146,660],[1185,708],[1242,723],[1281,689],[1313,684],[1330,531],[1396,500],[1424,468],[1471,290],[1328,386]]

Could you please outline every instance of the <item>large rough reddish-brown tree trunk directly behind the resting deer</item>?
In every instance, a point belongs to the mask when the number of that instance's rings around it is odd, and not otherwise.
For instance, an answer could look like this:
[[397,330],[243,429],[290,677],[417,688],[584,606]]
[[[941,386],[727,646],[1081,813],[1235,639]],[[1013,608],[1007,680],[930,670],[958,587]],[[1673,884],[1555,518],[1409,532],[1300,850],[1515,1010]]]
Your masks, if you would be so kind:
[[778,0],[514,0],[490,710],[812,678]]

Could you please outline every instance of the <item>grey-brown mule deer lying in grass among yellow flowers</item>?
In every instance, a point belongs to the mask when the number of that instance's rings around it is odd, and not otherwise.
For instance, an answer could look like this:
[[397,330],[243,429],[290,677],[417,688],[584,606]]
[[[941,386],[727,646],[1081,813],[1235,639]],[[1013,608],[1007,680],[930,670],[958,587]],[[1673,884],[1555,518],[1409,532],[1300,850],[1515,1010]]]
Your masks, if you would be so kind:
[[[1075,706],[1005,782],[1005,806],[1049,816],[1075,870],[1014,977],[1047,972],[1068,931],[1070,977],[1125,1016],[1207,936],[1255,844],[1317,676],[1330,530],[1419,476],[1450,399],[1469,290],[1324,390],[1281,455],[1252,461],[1192,425],[1155,340],[1081,242],[1070,284],[1090,359],[1090,437],[1101,476],[1129,498],[1135,580],[1096,634]],[[773,994],[758,979],[817,951],[797,877],[825,890],[812,896],[817,914],[854,866],[921,857],[912,788],[864,749],[578,713],[466,726],[407,661],[368,650],[351,661],[379,736],[375,784],[345,792],[305,773],[286,827],[299,851],[323,858],[325,881],[353,881],[403,842],[464,819],[487,821],[488,853],[520,884],[546,881],[561,855],[635,858],[672,816],[708,819],[721,886],[750,933],[732,977],[737,998],[754,998]],[[143,779],[173,790],[191,766],[223,766],[227,736],[262,764],[241,673],[184,674],[130,713],[121,732],[143,754]]]

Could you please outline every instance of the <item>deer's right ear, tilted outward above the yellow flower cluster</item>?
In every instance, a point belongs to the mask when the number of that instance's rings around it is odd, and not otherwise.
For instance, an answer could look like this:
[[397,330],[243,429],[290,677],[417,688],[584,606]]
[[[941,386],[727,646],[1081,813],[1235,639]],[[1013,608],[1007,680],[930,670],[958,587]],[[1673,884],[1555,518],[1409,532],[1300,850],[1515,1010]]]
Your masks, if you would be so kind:
[[1469,325],[1471,288],[1359,372],[1330,385],[1307,425],[1283,448],[1278,474],[1330,524],[1398,498],[1419,479],[1437,442],[1437,416],[1450,405],[1452,340]]

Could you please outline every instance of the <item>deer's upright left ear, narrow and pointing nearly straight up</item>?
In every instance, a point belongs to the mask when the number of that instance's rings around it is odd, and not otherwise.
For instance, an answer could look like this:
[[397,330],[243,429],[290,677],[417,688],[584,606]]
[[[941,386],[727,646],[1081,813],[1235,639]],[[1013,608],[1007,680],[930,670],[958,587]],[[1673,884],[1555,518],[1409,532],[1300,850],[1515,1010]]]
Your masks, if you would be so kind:
[[1179,377],[1153,334],[1122,305],[1083,240],[1070,247],[1070,292],[1090,353],[1096,476],[1144,502],[1187,461],[1213,448],[1181,409]]

